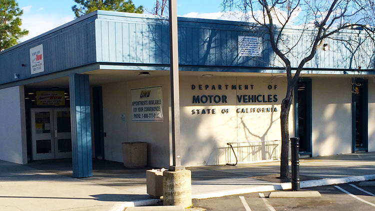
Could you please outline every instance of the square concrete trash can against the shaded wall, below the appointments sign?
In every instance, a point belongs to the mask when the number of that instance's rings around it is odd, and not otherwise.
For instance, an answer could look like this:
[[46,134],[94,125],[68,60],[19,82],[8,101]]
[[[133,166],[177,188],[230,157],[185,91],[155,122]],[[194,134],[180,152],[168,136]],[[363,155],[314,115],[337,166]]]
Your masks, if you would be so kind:
[[135,168],[147,165],[147,142],[123,142],[123,165]]

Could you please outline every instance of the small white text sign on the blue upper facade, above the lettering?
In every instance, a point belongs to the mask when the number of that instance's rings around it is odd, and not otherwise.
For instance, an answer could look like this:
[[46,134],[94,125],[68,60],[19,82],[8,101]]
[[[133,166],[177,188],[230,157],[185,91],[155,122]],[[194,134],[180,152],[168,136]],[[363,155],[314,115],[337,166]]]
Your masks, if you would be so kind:
[[238,36],[238,55],[261,56],[261,41],[261,37]]

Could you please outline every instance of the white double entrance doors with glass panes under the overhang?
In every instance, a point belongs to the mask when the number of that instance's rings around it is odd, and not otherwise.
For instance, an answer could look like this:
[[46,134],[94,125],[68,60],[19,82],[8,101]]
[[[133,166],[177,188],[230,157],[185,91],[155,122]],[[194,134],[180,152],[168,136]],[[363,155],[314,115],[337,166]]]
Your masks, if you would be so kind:
[[69,108],[31,109],[33,159],[71,157]]

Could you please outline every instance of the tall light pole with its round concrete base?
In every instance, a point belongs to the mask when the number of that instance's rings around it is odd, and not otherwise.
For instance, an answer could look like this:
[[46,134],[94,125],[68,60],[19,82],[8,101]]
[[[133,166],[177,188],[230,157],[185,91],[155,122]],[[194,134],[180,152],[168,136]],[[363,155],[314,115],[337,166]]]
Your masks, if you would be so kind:
[[178,43],[177,5],[169,0],[169,46],[170,46],[170,91],[172,107],[172,165],[163,172],[163,204],[191,204],[191,171],[181,166],[181,146],[179,139],[179,83],[178,83]]

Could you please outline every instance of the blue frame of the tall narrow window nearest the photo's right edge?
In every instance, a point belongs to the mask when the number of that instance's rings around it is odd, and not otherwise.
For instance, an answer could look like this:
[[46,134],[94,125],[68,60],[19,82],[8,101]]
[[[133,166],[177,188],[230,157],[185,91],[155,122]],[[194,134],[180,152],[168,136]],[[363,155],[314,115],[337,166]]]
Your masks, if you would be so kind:
[[[362,109],[362,138],[363,138],[363,147],[356,147],[355,146],[355,121],[356,121],[356,113],[355,113],[355,90],[353,88],[355,82],[360,82],[363,85],[363,89],[361,92],[363,93],[362,102],[363,109]],[[351,80],[351,152],[354,153],[355,151],[368,151],[368,80],[363,78],[352,78]]]

